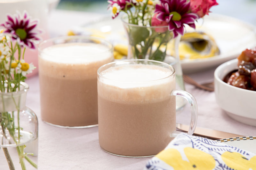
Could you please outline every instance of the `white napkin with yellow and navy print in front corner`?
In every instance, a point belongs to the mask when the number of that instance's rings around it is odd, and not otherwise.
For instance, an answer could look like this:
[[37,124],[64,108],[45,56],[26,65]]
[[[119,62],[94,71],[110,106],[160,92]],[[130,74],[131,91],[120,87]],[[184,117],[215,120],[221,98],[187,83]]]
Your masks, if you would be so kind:
[[[256,146],[252,146],[256,147]],[[144,170],[256,170],[252,152],[203,137],[180,134]]]

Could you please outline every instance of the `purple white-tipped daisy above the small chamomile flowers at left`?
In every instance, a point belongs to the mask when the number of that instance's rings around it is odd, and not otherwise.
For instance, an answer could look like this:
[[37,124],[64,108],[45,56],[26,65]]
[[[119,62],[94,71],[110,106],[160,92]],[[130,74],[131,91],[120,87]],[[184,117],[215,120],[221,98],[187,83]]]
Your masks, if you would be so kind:
[[21,47],[35,49],[35,43],[41,40],[38,34],[42,33],[36,28],[37,22],[37,20],[30,19],[27,12],[24,11],[23,15],[19,12],[13,17],[7,15],[7,21],[0,26],[3,26],[4,33],[9,33],[12,40],[17,41]]

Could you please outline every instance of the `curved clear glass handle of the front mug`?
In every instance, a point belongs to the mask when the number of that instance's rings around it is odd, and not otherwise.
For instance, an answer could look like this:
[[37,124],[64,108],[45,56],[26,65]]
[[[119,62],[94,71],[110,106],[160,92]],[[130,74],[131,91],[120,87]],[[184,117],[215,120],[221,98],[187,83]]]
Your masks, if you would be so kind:
[[[193,135],[196,129],[196,122],[197,122],[197,116],[198,116],[198,110],[197,110],[197,103],[195,97],[190,94],[189,92],[183,91],[183,90],[172,90],[171,95],[173,96],[181,96],[188,100],[188,103],[190,105],[191,109],[191,118],[190,118],[190,125],[188,132],[186,134],[188,135]],[[180,132],[180,131],[173,131],[171,133],[171,137],[176,137],[180,133],[185,133],[185,132]]]

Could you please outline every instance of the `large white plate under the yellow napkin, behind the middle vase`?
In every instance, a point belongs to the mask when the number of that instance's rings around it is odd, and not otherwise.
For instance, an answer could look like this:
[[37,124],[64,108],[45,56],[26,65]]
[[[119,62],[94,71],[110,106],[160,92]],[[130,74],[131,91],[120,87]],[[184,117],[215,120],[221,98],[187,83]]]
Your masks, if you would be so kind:
[[[99,31],[102,36],[115,43],[127,44],[126,35],[120,18],[104,18],[82,27],[85,34]],[[246,48],[256,46],[256,27],[236,18],[210,13],[204,17],[202,26],[196,30],[203,30],[212,35],[220,48],[220,55],[195,60],[182,60],[181,66],[184,73],[198,72],[218,66],[228,60],[236,58]],[[80,30],[81,31],[81,30]],[[95,33],[94,32],[94,33]]]

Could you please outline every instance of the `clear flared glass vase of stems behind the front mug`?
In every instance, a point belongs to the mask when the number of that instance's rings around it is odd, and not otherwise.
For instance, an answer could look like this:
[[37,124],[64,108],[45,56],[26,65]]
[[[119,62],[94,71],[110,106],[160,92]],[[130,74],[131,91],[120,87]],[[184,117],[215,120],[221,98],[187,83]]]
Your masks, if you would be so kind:
[[[139,26],[128,23],[124,15],[122,22],[128,38],[128,59],[149,59],[168,63],[176,74],[176,89],[184,90],[183,73],[180,64],[179,42],[181,36],[174,34],[168,26]],[[176,96],[176,113],[184,108],[186,100]]]

